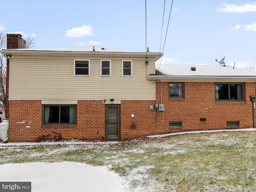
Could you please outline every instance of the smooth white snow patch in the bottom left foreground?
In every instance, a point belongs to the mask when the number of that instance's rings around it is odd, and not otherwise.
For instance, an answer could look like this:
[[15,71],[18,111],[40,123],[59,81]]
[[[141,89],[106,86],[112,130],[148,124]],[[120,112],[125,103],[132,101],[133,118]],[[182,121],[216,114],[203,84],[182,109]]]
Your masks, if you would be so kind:
[[124,192],[124,180],[107,167],[80,163],[0,165],[1,182],[31,182],[32,192]]

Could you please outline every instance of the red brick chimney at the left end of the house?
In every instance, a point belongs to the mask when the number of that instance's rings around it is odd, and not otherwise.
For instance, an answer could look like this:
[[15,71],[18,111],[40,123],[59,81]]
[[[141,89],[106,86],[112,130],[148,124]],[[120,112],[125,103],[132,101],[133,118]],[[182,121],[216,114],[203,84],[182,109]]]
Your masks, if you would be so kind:
[[[7,49],[22,49],[26,48],[26,40],[21,34],[7,34]],[[9,69],[10,60],[6,59],[6,102],[5,102],[5,117],[9,118]]]

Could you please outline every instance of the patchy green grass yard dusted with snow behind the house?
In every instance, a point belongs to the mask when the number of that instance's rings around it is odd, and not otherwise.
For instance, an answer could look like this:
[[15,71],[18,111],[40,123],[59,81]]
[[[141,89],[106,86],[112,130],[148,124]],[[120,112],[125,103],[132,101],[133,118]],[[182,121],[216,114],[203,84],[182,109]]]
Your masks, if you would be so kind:
[[108,166],[131,192],[256,191],[256,131],[0,147],[0,164],[62,161]]

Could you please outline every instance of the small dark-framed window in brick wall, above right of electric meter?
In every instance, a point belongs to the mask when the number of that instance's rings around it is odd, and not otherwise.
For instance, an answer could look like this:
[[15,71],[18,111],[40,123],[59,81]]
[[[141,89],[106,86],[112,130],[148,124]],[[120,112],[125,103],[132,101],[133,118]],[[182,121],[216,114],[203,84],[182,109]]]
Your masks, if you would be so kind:
[[168,86],[169,99],[184,99],[184,83],[169,82]]

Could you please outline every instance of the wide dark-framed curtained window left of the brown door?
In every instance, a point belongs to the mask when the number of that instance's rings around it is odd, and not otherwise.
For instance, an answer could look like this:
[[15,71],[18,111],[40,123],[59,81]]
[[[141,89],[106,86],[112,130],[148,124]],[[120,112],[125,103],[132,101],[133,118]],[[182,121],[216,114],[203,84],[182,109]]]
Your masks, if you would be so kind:
[[43,105],[43,125],[76,125],[76,105]]

